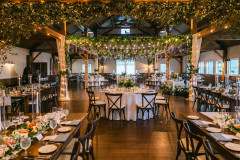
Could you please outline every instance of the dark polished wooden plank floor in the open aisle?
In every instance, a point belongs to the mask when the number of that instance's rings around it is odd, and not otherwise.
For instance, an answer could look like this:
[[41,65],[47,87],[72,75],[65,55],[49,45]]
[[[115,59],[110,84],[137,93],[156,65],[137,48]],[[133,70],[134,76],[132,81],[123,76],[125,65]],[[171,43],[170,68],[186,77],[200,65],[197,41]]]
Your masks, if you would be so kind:
[[[87,112],[86,92],[76,87],[69,94],[71,101],[61,106],[69,107],[70,112]],[[192,112],[192,102],[172,96],[170,110]],[[165,115],[158,120],[146,120],[143,126],[130,121],[121,127],[119,121],[101,119],[94,138],[94,155],[97,160],[174,160],[176,140],[175,124],[167,121]],[[179,159],[185,159],[183,153]]]

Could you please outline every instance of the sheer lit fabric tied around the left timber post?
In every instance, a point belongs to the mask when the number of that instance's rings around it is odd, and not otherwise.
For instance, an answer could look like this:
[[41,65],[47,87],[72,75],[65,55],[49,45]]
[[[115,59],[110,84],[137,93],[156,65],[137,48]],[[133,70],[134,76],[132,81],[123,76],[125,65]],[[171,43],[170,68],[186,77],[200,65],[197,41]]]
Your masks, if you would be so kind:
[[[65,60],[65,36],[61,36],[61,38],[56,39],[56,42],[57,42],[60,70],[66,71],[67,68],[66,68],[66,60]],[[67,84],[66,75],[61,75],[59,100],[60,101],[70,100],[68,95],[68,84]]]

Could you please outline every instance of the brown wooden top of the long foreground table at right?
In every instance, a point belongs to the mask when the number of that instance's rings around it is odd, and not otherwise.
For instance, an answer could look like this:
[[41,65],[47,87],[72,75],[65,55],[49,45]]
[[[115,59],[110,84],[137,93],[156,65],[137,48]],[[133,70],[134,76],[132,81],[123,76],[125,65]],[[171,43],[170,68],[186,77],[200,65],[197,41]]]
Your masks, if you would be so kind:
[[[229,114],[233,115],[234,112],[230,112]],[[191,129],[193,127],[193,130],[195,133],[198,133],[199,135],[201,136],[205,136],[211,143],[212,147],[217,150],[224,158],[226,159],[238,159],[239,160],[239,157],[236,155],[236,154],[240,154],[240,152],[235,152],[235,151],[232,151],[232,150],[229,150],[227,149],[224,144],[226,142],[219,142],[219,141],[216,141],[214,138],[212,138],[210,136],[210,132],[208,132],[206,130],[206,127],[200,127],[200,126],[197,126],[195,123],[193,123],[193,121],[191,119],[188,118],[189,115],[194,115],[194,116],[198,116],[200,120],[205,120],[205,121],[210,121],[210,122],[213,122],[213,120],[207,116],[205,116],[204,114],[202,113],[199,113],[199,112],[192,112],[192,113],[181,113],[181,115],[187,119],[187,121],[189,122],[189,125],[191,126]],[[214,126],[214,127],[217,127],[219,128],[218,125],[210,125],[210,126]],[[234,132],[230,131],[230,129],[226,128],[224,129],[224,132],[223,133],[226,133],[226,134],[231,134],[231,135],[236,135]],[[240,143],[240,140],[233,140],[232,141],[233,143]]]

